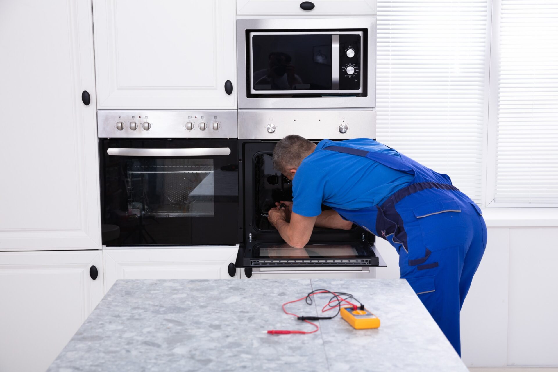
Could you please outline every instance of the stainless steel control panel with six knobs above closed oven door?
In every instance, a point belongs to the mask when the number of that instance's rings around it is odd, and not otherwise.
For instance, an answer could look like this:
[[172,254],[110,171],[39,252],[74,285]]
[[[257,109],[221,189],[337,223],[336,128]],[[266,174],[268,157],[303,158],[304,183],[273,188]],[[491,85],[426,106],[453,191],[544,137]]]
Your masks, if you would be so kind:
[[99,110],[99,138],[237,138],[237,111]]

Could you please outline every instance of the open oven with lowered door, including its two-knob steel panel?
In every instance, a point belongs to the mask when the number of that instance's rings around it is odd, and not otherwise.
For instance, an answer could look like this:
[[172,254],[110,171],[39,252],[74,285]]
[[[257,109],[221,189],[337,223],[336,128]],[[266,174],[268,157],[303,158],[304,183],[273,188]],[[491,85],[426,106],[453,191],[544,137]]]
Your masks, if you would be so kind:
[[[368,111],[239,111],[240,248],[236,261],[253,273],[358,273],[384,266],[374,247],[374,235],[351,230],[315,228],[302,249],[291,248],[267,220],[280,200],[292,200],[291,181],[272,165],[275,144],[288,134],[312,141],[376,137],[376,112]],[[327,209],[323,206],[323,209]],[[316,271],[316,269],[318,271]],[[301,271],[302,270],[302,271]]]

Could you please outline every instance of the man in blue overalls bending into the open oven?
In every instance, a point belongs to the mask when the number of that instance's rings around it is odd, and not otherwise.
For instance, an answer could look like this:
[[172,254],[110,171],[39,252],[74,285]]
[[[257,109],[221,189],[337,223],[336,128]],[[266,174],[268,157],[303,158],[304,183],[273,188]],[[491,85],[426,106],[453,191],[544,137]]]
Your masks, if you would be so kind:
[[[487,229],[480,208],[450,177],[373,139],[318,145],[287,136],[273,166],[292,182],[292,203],[277,203],[268,218],[295,248],[314,226],[362,226],[399,253],[401,278],[460,354],[459,311],[483,257]],[[330,210],[321,210],[321,205]]]

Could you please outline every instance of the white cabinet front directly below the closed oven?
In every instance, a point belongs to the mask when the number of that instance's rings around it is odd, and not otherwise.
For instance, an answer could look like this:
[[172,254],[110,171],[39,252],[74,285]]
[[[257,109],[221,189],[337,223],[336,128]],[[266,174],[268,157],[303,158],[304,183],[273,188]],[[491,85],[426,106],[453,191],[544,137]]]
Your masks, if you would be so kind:
[[117,279],[230,279],[237,253],[238,247],[104,249],[105,288]]

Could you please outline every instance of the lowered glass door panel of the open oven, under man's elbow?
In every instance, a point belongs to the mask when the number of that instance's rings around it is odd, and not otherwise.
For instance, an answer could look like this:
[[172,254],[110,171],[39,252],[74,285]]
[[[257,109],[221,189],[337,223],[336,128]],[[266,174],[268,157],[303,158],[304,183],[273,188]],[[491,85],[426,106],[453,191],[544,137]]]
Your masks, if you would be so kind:
[[377,265],[378,257],[367,241],[309,243],[292,248],[286,243],[258,243],[248,248],[252,266]]

